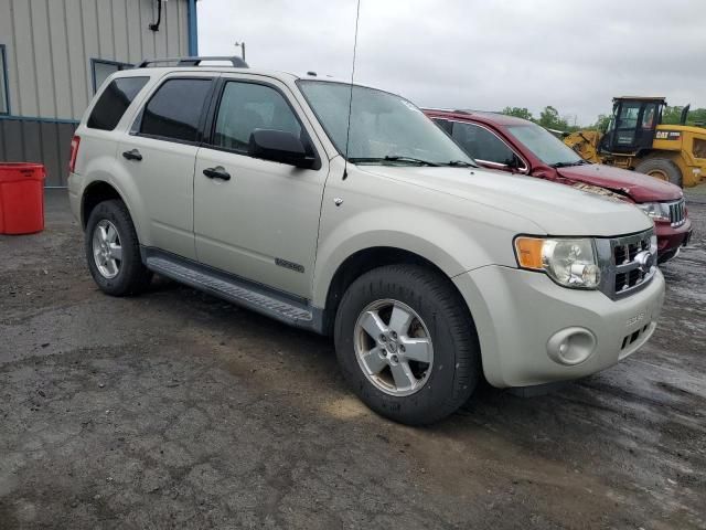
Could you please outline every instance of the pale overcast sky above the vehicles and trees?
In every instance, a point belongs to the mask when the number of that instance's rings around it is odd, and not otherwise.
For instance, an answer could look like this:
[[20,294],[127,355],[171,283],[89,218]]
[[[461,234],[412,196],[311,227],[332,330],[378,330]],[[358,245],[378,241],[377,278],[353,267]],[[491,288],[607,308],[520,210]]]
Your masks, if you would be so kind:
[[[201,0],[201,55],[351,78],[356,0]],[[361,0],[355,83],[419,106],[547,105],[569,124],[620,95],[706,107],[704,0]]]

